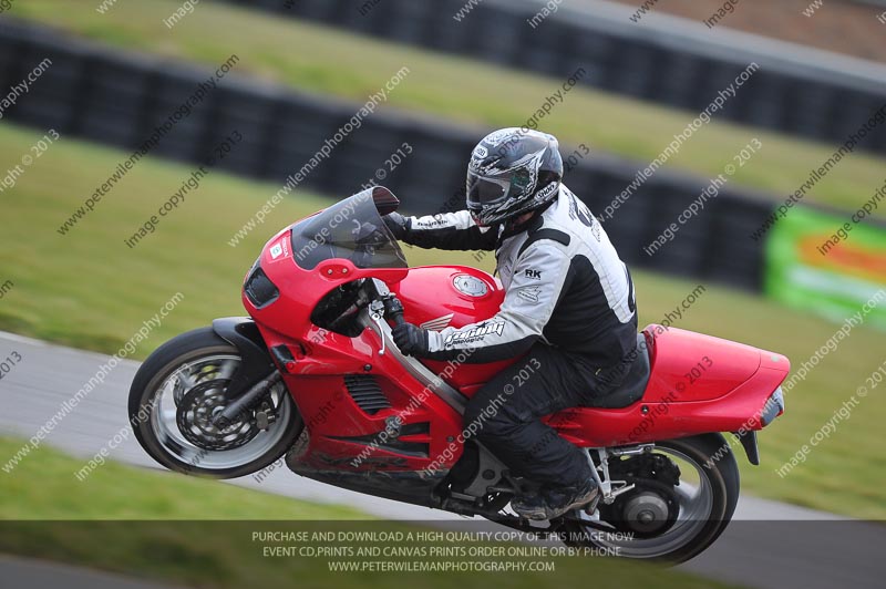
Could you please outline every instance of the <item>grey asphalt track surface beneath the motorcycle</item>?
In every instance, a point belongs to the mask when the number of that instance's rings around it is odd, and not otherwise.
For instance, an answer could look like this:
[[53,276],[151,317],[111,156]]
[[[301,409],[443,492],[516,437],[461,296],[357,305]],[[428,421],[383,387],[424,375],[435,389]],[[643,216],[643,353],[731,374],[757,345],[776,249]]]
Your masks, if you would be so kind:
[[[103,354],[0,332],[0,359],[13,351],[21,355],[21,361],[0,381],[0,434],[22,438],[34,435],[109,359]],[[45,443],[84,458],[84,463],[105,447],[127,423],[126,395],[137,368],[137,362],[122,361],[102,385],[58,423]],[[9,458],[0,456],[0,465],[6,465]],[[111,458],[144,468],[162,468],[142,451],[133,436],[111,451]],[[744,461],[744,457],[740,459]],[[0,476],[16,474],[14,471],[0,472]],[[73,473],[71,484],[78,484]],[[229,484],[318,503],[349,505],[388,519],[460,519],[444,512],[399,504],[301,478],[285,467],[275,469],[260,483],[253,477],[244,477]],[[886,578],[884,546],[886,526],[882,523],[848,520],[832,514],[742,496],[735,518],[723,536],[701,556],[680,568],[760,589],[879,589]],[[6,560],[2,565],[0,568],[3,570],[9,570],[13,565],[20,572],[35,570],[34,567],[29,568],[27,562]]]

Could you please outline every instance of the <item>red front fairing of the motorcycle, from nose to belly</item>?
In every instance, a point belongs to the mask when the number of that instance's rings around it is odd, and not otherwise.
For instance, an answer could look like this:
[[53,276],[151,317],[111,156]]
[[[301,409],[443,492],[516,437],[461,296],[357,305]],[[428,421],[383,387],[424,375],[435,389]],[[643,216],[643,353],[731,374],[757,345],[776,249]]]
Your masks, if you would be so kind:
[[[284,381],[311,436],[305,464],[315,468],[421,471],[444,453],[449,445],[446,437],[462,431],[461,415],[437,396],[423,393],[423,386],[393,355],[379,354],[381,340],[374,330],[349,338],[310,321],[313,309],[333,288],[369,277],[395,285],[409,270],[364,270],[343,259],[323,261],[306,270],[295,261],[289,230],[268,241],[260,261],[261,269],[279,289],[279,298],[262,309],[256,308],[245,293],[243,302],[268,348],[284,345],[293,358],[291,365],[282,366]],[[346,376],[357,374],[372,375],[391,409],[374,414],[362,411],[346,385]],[[403,427],[429,424],[427,433],[400,437],[402,442],[426,444],[429,457],[402,456],[377,447],[358,466],[351,465],[370,441],[384,431],[387,420],[394,416],[402,421]]]

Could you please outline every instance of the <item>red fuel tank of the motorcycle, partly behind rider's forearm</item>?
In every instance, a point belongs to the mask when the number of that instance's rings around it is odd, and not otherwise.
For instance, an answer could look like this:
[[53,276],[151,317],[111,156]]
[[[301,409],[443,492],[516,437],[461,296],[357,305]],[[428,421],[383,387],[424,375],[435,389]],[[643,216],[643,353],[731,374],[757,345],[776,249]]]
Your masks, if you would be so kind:
[[[410,268],[391,290],[403,303],[410,323],[440,331],[490,319],[502,306],[505,292],[490,273],[464,266]],[[484,364],[434,362],[424,364],[450,385],[471,396],[515,359]]]

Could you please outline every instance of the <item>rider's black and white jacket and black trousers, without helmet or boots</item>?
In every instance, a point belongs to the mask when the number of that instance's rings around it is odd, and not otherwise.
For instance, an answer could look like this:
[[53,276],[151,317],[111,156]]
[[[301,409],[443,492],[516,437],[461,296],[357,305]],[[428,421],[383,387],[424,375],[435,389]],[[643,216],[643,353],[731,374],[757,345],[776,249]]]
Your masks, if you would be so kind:
[[518,476],[557,485],[587,480],[584,452],[540,418],[611,392],[636,353],[630,272],[599,221],[560,185],[557,198],[519,227],[484,231],[464,210],[412,217],[404,240],[495,250],[505,289],[501,310],[486,321],[431,331],[426,355],[446,360],[470,350],[462,354],[467,362],[492,362],[525,354],[471,399],[465,424],[482,422],[480,440]]

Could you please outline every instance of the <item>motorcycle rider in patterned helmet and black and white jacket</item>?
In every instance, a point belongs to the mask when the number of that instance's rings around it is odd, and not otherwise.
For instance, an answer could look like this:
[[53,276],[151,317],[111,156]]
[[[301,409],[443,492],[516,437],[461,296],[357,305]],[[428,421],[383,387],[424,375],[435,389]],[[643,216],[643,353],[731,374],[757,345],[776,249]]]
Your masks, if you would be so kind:
[[[529,519],[558,517],[596,497],[587,454],[542,417],[614,391],[637,345],[628,268],[562,177],[554,136],[503,128],[471,154],[467,210],[385,217],[408,244],[496,251],[505,289],[497,314],[441,331],[406,323],[394,328],[393,339],[403,353],[433,360],[526,354],[477,391],[464,421],[476,424],[478,440],[513,474],[540,485],[511,504]],[[517,378],[521,372],[530,375]]]

